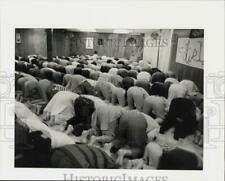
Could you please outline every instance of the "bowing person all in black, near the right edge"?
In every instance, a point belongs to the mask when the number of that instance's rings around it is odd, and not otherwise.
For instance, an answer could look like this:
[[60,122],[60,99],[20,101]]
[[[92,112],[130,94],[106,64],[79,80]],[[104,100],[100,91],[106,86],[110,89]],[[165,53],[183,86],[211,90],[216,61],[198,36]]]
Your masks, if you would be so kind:
[[186,98],[173,99],[160,128],[160,133],[163,134],[171,127],[175,127],[174,139],[176,140],[194,134],[198,125],[195,111],[196,107],[191,100]]

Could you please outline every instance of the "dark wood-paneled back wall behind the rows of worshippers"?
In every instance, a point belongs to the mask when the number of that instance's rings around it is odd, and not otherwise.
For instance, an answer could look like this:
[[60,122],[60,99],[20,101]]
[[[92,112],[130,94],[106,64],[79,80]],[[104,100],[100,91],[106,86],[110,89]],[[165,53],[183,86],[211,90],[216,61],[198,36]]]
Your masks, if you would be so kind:
[[[46,29],[16,29],[20,33],[22,43],[16,44],[16,55],[27,56],[40,54],[47,57],[47,30]],[[94,38],[94,48],[86,49],[86,38]],[[114,34],[114,33],[88,33],[72,32],[65,29],[54,29],[52,32],[52,56],[70,56],[75,54],[92,55],[98,51],[100,56],[113,56],[118,58],[126,57],[129,50],[126,49],[126,40],[135,38],[137,46],[141,50],[138,59],[143,58],[143,37],[144,35]],[[99,39],[103,45],[99,45]],[[128,53],[127,53],[128,52]]]

